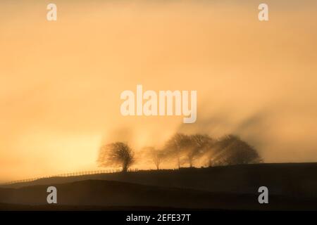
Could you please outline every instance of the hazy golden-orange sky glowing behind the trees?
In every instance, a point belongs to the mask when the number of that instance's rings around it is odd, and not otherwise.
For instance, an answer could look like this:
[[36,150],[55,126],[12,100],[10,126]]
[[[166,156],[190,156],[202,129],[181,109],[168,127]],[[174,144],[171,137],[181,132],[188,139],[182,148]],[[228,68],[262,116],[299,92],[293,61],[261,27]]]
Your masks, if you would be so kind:
[[[316,1],[266,1],[267,22],[261,3],[1,1],[0,181],[96,169],[104,143],[159,148],[177,131],[316,162]],[[137,84],[196,90],[197,122],[123,117]]]

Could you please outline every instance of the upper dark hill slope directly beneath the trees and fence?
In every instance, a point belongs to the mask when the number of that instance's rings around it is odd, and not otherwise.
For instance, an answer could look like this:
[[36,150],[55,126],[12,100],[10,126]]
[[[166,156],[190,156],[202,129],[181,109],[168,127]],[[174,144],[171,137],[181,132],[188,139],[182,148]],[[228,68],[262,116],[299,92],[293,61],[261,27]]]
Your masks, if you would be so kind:
[[316,174],[317,163],[276,163],[52,177],[2,187],[20,188],[92,179],[237,194],[254,194],[259,186],[267,186],[273,195],[317,198]]

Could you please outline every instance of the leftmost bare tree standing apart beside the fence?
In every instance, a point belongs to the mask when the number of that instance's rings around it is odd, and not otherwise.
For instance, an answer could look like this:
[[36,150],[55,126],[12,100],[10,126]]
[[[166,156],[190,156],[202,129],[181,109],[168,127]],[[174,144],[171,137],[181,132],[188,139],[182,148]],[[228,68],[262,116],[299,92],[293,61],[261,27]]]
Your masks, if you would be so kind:
[[135,162],[133,150],[123,142],[110,143],[101,146],[97,163],[99,167],[121,165],[122,171],[127,172],[128,168]]

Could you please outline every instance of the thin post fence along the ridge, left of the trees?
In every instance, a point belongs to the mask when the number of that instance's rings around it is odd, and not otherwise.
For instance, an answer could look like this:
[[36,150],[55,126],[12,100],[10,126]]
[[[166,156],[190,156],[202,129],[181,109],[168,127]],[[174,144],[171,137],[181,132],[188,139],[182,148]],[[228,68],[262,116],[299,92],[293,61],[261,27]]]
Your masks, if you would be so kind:
[[[128,172],[137,172],[138,169],[128,169]],[[73,172],[73,173],[66,173],[66,174],[57,174],[53,176],[38,176],[31,179],[23,179],[23,180],[16,180],[16,181],[9,181],[4,184],[0,185],[8,185],[8,184],[18,184],[18,183],[25,183],[30,181],[36,181],[39,179],[48,179],[52,177],[68,177],[68,176],[83,176],[83,175],[94,175],[94,174],[113,174],[122,172],[121,169],[102,169],[102,170],[89,170],[89,171],[80,171],[80,172]]]

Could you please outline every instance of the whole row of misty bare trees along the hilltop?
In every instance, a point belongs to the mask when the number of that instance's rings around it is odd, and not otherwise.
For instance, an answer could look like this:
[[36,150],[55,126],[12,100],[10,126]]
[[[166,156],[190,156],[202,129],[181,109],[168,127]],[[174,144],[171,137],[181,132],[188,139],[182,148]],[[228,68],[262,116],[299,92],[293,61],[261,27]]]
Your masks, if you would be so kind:
[[209,167],[239,165],[263,162],[255,148],[242,141],[239,136],[226,135],[213,139],[207,134],[174,134],[163,148],[144,147],[137,157],[128,143],[115,142],[101,146],[97,164],[99,167],[122,167],[123,172],[138,159],[151,161],[156,169],[162,162],[175,160],[178,168],[182,165],[194,167],[196,161]]

